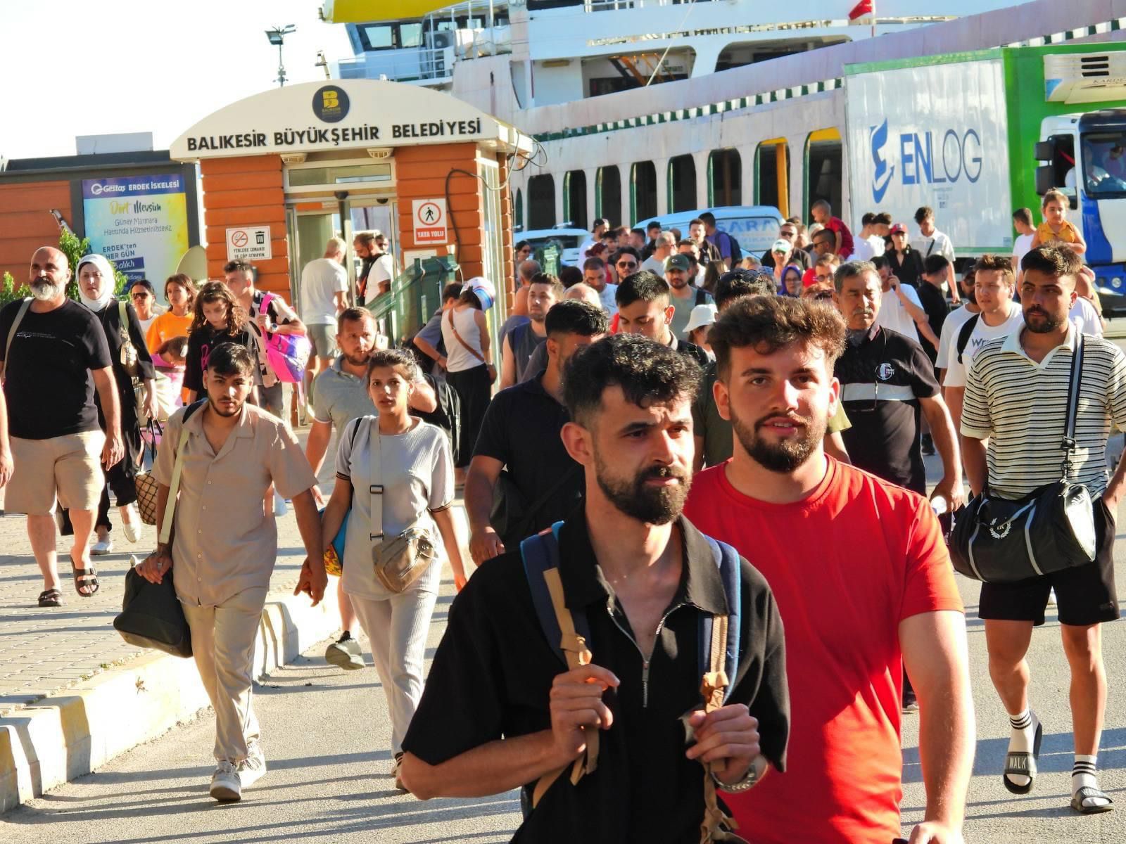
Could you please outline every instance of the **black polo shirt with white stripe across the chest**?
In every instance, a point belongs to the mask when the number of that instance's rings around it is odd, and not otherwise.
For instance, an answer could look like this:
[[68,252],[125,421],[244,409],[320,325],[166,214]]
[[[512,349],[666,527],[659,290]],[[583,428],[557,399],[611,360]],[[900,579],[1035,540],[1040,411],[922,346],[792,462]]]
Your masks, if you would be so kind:
[[849,332],[833,375],[852,423],[841,431],[852,464],[926,495],[919,399],[939,394],[927,352],[914,340],[876,325]]

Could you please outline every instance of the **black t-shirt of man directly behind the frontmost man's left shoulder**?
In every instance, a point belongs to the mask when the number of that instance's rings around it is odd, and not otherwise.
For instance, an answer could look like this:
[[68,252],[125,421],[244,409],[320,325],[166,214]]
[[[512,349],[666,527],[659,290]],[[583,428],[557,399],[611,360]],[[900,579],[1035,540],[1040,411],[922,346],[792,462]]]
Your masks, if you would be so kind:
[[493,396],[473,449],[474,456],[492,457],[504,464],[528,506],[556,487],[547,501],[528,513],[526,536],[565,519],[582,499],[584,488],[582,469],[571,459],[560,437],[571,416],[544,389],[543,378],[540,372]]

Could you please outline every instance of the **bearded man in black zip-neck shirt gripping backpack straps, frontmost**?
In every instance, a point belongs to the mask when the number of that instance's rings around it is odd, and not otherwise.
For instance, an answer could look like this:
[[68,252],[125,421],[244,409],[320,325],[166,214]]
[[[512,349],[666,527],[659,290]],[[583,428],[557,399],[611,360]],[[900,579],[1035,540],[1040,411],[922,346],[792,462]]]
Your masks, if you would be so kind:
[[401,774],[417,797],[535,783],[582,754],[582,728],[598,729],[597,767],[555,779],[513,841],[697,842],[701,762],[731,791],[753,785],[768,762],[783,770],[781,620],[747,560],[732,693],[715,711],[700,707],[700,613],[731,607],[711,546],[681,517],[699,377],[668,347],[623,334],[569,362],[574,421],[562,436],[584,468],[586,504],[558,531],[558,572],[568,608],[589,623],[591,664],[563,670],[518,553],[479,568],[450,608],[403,742]]

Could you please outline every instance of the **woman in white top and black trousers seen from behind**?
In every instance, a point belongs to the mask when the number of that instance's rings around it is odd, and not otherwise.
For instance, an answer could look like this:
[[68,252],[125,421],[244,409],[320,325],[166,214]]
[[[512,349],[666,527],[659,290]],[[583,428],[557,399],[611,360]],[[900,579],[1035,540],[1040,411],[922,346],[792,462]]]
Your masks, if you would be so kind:
[[497,380],[489,349],[489,323],[485,321],[485,311],[491,306],[491,285],[483,278],[474,278],[441,318],[446,383],[462,399],[458,481],[462,481],[464,467],[473,457],[473,447],[477,445],[481,422],[489,407],[492,383]]

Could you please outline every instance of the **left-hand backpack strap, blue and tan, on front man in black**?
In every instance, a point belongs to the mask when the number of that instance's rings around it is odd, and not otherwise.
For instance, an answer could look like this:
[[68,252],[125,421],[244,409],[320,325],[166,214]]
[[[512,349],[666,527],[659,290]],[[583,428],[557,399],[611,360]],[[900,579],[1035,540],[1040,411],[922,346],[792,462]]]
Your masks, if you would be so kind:
[[[544,636],[548,644],[553,645],[553,649],[558,648],[568,671],[571,671],[581,665],[589,665],[592,656],[587,646],[590,639],[587,613],[582,610],[569,610],[563,594],[558,545],[562,526],[563,522],[555,522],[548,530],[520,542],[520,557],[524,560],[528,587],[531,590],[531,603]],[[577,784],[583,774],[593,773],[598,767],[598,730],[583,727],[582,733],[587,739],[587,749],[571,766],[572,785]],[[548,771],[536,781],[531,792],[533,808],[539,803],[547,789],[564,770],[566,766]]]

